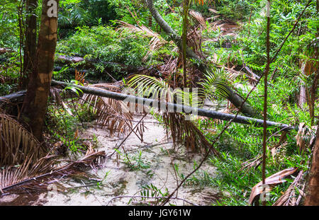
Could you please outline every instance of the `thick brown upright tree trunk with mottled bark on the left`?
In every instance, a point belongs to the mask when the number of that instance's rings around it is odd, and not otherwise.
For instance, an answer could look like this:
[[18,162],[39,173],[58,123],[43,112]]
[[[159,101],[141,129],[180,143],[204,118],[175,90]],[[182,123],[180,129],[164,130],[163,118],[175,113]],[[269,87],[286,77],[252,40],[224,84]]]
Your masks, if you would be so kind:
[[39,141],[43,141],[43,125],[57,45],[58,4],[59,0],[43,0],[35,69],[29,75],[28,91],[23,102],[22,119]]

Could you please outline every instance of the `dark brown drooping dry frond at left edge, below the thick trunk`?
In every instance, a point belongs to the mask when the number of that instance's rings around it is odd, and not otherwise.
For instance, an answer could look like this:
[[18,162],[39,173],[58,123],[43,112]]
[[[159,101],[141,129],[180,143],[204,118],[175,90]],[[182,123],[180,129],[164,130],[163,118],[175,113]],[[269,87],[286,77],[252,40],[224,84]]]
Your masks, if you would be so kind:
[[0,138],[0,166],[20,164],[26,158],[35,163],[46,155],[38,140],[8,115],[0,114]]

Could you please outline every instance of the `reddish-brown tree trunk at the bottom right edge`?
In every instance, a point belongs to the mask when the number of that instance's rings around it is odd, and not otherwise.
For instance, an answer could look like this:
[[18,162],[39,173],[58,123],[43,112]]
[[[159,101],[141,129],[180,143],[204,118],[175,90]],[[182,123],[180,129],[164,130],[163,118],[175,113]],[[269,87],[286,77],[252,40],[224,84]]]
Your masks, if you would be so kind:
[[319,205],[319,126],[317,127],[315,146],[313,146],[313,161],[310,169],[306,206]]

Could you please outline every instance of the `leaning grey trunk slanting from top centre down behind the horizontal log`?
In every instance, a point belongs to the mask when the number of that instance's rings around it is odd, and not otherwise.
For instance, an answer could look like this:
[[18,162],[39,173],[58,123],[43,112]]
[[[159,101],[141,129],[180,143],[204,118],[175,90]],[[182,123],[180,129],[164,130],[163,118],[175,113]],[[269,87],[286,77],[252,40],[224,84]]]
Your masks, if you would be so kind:
[[[152,0],[146,0],[146,3],[147,8],[150,10],[150,13],[152,13],[152,16],[155,18],[155,21],[165,31],[165,33],[167,33],[172,38],[177,47],[179,47],[179,49],[181,50],[181,37],[177,35],[177,33],[169,26],[169,24],[166,21],[164,21],[162,16],[156,10]],[[198,57],[197,54],[193,50],[191,50],[191,48],[186,47],[186,55],[187,57],[196,59],[198,61],[198,69],[203,73],[205,73],[206,71],[211,71],[211,69],[208,68],[205,62],[203,62],[203,60],[200,57]],[[245,115],[256,115],[257,111],[255,111],[249,103],[244,103],[244,99],[240,97],[240,95],[235,93],[235,91],[233,91],[233,89],[229,86],[224,85],[224,87],[225,90],[228,91],[228,95],[226,98],[230,100],[230,102],[233,103],[233,105],[235,105],[236,108],[240,108],[240,106],[242,106],[241,111]]]

